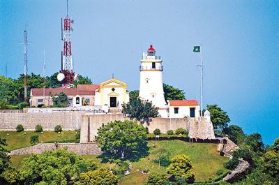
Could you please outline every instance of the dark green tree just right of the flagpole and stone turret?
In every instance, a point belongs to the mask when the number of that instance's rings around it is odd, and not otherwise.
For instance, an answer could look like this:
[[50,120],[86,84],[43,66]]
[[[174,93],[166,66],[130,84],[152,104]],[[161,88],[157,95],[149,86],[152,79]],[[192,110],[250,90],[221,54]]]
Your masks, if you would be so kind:
[[215,130],[220,129],[222,131],[223,128],[227,127],[227,124],[229,123],[229,121],[231,121],[231,119],[229,119],[229,116],[227,115],[227,112],[223,111],[216,104],[206,105],[206,108],[211,114],[211,122]]

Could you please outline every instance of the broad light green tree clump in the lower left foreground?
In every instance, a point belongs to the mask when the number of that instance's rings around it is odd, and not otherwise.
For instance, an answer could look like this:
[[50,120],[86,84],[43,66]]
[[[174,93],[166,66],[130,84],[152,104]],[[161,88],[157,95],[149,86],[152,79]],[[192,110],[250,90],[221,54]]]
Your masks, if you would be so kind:
[[82,172],[96,170],[98,165],[84,160],[65,149],[33,154],[22,161],[21,179],[24,184],[67,184]]

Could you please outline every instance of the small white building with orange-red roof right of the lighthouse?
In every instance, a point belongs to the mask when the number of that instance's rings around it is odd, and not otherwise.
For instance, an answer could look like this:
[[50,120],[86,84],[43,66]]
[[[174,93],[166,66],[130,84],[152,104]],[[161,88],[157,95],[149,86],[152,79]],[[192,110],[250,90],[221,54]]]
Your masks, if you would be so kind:
[[199,117],[199,103],[195,100],[192,101],[168,101],[169,105],[169,117],[183,118]]

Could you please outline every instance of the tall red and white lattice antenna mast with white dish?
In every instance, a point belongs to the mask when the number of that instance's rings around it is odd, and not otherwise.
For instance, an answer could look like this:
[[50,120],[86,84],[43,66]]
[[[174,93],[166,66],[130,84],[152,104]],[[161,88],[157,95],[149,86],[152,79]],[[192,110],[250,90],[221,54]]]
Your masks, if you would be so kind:
[[64,20],[61,19],[61,39],[63,40],[63,52],[61,52],[61,73],[57,76],[63,84],[73,84],[75,81],[75,73],[73,72],[73,58],[70,35],[73,31],[71,24],[73,20],[68,15],[68,0],[67,0],[67,16]]

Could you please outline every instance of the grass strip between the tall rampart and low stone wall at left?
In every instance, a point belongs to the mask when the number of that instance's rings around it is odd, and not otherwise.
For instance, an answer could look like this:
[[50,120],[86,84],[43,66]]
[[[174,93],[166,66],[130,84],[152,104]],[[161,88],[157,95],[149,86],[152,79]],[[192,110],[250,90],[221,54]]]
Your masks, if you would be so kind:
[[[24,132],[27,134],[24,135]],[[7,135],[7,133],[9,135]],[[31,146],[30,138],[31,135],[35,134],[39,135],[39,142],[75,139],[75,131],[62,131],[60,134],[55,133],[54,131],[44,131],[43,134],[35,133],[34,131],[23,131],[20,133],[17,133],[16,131],[0,131],[1,138],[7,140],[6,142],[8,146],[6,146],[6,149],[8,150]]]

